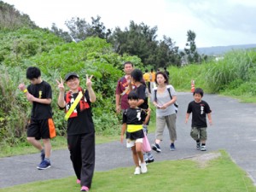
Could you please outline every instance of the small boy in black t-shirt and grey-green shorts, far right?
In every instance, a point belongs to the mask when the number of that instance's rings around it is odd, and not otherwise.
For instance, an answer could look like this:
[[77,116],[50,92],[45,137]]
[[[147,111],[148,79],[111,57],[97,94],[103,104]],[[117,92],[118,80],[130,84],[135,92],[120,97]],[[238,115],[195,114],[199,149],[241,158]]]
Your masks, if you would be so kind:
[[201,88],[196,88],[193,93],[194,101],[189,102],[185,123],[188,122],[189,114],[192,113],[192,125],[190,136],[196,142],[196,149],[206,151],[207,141],[207,117],[212,125],[212,110],[208,103],[201,100],[204,92]]

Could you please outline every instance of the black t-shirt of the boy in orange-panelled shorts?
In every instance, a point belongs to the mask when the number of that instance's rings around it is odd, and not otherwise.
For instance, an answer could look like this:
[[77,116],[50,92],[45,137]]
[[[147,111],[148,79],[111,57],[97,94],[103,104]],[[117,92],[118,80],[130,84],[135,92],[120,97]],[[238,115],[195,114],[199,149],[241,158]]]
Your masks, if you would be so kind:
[[[52,91],[50,85],[44,80],[40,84],[30,84],[27,90],[32,96],[39,99],[51,99]],[[52,118],[52,110],[50,104],[39,102],[32,103],[31,119],[49,119]]]

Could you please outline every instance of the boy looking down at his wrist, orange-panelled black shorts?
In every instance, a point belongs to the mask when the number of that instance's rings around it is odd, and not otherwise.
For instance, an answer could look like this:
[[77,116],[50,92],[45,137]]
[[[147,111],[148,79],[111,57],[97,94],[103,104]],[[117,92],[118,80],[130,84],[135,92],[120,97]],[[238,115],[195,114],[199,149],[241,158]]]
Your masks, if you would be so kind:
[[[31,119],[27,129],[27,141],[41,151],[41,163],[38,170],[50,167],[50,138],[56,136],[55,125],[52,119],[50,103],[52,101],[51,86],[41,79],[41,71],[38,67],[28,67],[26,79],[31,84],[19,84],[19,89],[26,94],[26,99],[32,103]],[[38,141],[43,139],[44,147]]]

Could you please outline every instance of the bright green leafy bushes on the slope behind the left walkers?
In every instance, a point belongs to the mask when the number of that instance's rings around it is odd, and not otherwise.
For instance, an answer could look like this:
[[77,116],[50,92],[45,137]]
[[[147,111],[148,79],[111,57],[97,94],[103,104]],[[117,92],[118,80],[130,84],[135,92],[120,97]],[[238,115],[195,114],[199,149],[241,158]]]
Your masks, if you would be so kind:
[[[26,35],[22,36],[23,42],[31,42],[37,45],[42,44],[42,38],[40,37],[46,37],[49,33],[23,28],[19,31],[20,35],[24,31],[26,31]],[[11,34],[9,36],[18,37]],[[49,40],[49,38],[46,39]],[[69,44],[61,44],[61,41],[56,38],[55,46],[50,50],[45,49],[45,51],[37,51],[38,54],[34,54],[33,51],[30,52],[30,49],[42,49],[43,47],[27,46],[24,49],[25,52],[21,51],[17,55],[14,51],[16,40],[14,39],[12,43],[9,41],[9,46],[3,44],[4,47],[8,47],[9,51],[4,52],[0,66],[0,78],[2,79],[0,82],[0,96],[2,98],[0,104],[0,142],[16,143],[20,138],[25,139],[26,122],[31,106],[26,102],[22,92],[17,90],[17,85],[20,82],[29,84],[29,81],[25,79],[26,68],[29,66],[40,67],[43,79],[52,85],[54,93],[52,106],[59,135],[65,133],[66,123],[63,120],[63,112],[56,105],[58,90],[56,89],[55,79],[63,78],[67,72],[71,71],[79,73],[83,86],[85,74],[94,75],[93,86],[97,96],[97,102],[94,106],[96,131],[104,134],[117,131],[119,120],[116,117],[113,105],[116,82],[122,75],[121,69],[124,61],[132,61],[137,67],[142,65],[137,56],[119,56],[113,53],[111,44],[100,38],[87,38],[79,43]],[[51,46],[47,40],[44,43],[48,47]]]

